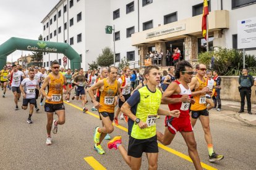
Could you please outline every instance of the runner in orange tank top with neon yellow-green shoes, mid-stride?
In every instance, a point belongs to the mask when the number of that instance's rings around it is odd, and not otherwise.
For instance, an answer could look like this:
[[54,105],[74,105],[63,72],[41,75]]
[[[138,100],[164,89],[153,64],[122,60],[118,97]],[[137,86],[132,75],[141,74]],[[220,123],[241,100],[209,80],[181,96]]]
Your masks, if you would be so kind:
[[[93,140],[95,142],[94,148],[101,155],[105,153],[101,147],[101,142],[106,134],[114,131],[114,97],[120,95],[119,99],[124,102],[124,96],[121,94],[121,84],[116,81],[117,69],[116,67],[108,68],[108,78],[99,80],[94,86],[88,89],[88,94],[93,100],[93,105],[98,108],[100,119],[102,120],[103,127],[96,127]],[[95,99],[93,91],[100,90],[100,102]]]

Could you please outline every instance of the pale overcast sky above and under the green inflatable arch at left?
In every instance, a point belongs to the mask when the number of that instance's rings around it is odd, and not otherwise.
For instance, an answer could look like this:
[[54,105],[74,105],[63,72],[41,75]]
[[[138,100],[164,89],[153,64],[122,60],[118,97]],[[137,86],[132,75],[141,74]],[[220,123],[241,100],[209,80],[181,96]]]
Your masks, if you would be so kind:
[[[43,34],[41,21],[59,0],[0,0],[0,45],[11,37],[38,39]],[[15,51],[7,57],[13,62],[31,51]]]

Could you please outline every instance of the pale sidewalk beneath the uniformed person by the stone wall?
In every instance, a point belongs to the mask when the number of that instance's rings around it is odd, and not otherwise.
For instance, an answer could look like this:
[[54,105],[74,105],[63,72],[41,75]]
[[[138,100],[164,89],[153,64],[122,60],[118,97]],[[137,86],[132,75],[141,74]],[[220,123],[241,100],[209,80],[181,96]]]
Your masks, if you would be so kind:
[[[233,102],[228,100],[221,100],[221,108],[223,110],[239,111],[240,102]],[[256,126],[256,105],[252,103],[252,115],[247,113],[247,102],[245,102],[244,113],[236,113],[236,118],[240,121],[249,124],[251,126]]]

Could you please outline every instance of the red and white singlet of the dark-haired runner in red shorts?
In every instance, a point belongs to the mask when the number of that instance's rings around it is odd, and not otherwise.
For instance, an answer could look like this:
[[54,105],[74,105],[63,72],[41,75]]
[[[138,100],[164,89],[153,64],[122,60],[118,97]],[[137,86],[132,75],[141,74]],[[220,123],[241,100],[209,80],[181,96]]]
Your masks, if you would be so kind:
[[[191,97],[191,90],[186,89],[179,81],[173,81],[173,83],[177,83],[179,85],[179,88],[181,89],[181,92],[179,94],[173,94],[170,96],[170,98],[181,98],[182,95],[189,95]],[[189,116],[189,102],[179,102],[179,103],[173,103],[168,104],[169,110],[179,110],[181,111],[181,115],[179,115],[179,118]]]

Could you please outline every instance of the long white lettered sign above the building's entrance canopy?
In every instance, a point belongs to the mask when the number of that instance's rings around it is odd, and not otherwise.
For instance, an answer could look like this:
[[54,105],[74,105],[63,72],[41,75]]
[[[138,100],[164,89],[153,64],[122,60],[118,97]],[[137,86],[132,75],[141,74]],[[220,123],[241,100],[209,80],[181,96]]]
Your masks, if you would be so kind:
[[181,25],[177,25],[177,26],[168,27],[163,30],[158,30],[158,31],[153,31],[151,33],[147,33],[146,38],[153,38],[155,36],[161,36],[164,34],[175,33],[177,31],[182,31],[182,30],[186,30],[185,23],[181,24]]

